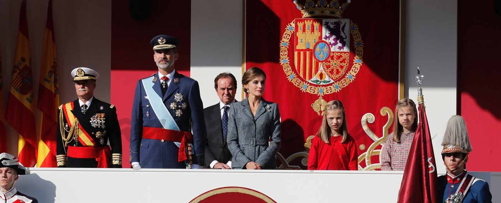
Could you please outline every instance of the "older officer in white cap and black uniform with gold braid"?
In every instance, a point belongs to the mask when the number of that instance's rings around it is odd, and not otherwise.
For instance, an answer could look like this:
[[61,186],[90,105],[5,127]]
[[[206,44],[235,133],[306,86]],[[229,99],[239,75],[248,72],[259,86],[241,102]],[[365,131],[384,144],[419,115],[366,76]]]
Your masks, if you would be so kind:
[[71,75],[78,99],[58,109],[58,167],[122,167],[117,109],[94,97],[99,73],[77,67]]

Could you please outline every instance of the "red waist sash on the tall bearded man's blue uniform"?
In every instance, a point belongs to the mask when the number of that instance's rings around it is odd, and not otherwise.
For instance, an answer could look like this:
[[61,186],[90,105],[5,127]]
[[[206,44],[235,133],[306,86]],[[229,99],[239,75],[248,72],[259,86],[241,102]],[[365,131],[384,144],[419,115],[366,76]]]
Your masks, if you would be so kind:
[[[191,134],[191,132],[164,129],[159,127],[143,127],[143,138],[181,142],[177,156],[178,162],[188,159],[184,150],[186,149],[186,147],[188,147],[187,144],[193,142],[193,134]],[[188,147],[188,153],[190,152],[190,147]]]

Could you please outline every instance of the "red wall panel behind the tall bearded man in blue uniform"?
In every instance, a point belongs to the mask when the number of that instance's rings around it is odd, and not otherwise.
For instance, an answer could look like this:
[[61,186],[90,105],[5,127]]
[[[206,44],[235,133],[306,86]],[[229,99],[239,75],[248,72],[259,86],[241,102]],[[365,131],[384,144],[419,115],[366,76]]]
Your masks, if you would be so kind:
[[[148,4],[148,2],[150,4]],[[147,11],[146,19],[134,19],[131,9]],[[158,71],[153,60],[150,40],[158,34],[168,34],[180,40],[176,70],[190,74],[191,3],[162,0],[113,0],[111,15],[111,103],[117,106],[122,129],[123,167],[130,167],[130,116],[134,89],[138,79]]]

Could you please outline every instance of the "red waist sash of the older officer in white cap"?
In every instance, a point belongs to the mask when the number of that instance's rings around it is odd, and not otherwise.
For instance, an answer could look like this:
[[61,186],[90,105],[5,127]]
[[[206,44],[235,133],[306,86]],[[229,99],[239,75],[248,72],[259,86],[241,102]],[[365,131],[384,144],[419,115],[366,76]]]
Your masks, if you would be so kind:
[[111,148],[106,146],[68,146],[68,156],[72,158],[96,158],[98,168],[108,167]]

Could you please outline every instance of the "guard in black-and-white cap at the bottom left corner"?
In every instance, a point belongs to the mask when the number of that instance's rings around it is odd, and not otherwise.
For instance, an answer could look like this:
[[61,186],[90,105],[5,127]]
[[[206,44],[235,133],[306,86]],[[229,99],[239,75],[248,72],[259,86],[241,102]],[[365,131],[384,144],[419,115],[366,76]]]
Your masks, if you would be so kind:
[[0,201],[6,203],[38,203],[37,199],[19,192],[14,183],[19,175],[26,174],[26,168],[10,153],[0,153]]

